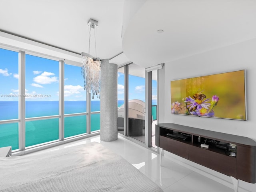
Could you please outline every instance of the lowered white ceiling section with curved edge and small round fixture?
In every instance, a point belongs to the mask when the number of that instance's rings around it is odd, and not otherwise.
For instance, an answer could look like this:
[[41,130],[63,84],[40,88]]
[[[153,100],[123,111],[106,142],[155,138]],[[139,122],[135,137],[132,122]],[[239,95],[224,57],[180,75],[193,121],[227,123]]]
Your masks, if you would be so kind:
[[[138,6],[123,32],[122,48],[141,66],[256,38],[255,0],[148,0]],[[162,34],[156,32],[160,29]]]

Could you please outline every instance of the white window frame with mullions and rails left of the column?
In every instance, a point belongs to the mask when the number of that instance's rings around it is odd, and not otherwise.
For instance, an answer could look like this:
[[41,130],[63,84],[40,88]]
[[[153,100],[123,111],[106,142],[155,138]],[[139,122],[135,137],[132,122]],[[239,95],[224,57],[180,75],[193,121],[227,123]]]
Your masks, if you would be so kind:
[[[91,125],[91,114],[100,114],[100,111],[91,112],[90,94],[86,94],[86,103],[87,103],[86,112],[75,113],[75,114],[64,114],[64,65],[70,64],[73,66],[81,66],[79,62],[72,61],[72,60],[65,60],[63,58],[50,56],[48,54],[46,55],[43,53],[33,52],[31,50],[25,50],[22,48],[16,48],[16,47],[6,46],[6,45],[2,45],[2,44],[0,44],[0,48],[18,52],[19,95],[25,94],[25,78],[26,78],[26,76],[25,76],[26,59],[25,58],[26,58],[26,54],[29,54],[32,56],[38,56],[38,57],[46,58],[46,59],[50,59],[50,60],[55,60],[55,61],[59,62],[59,114],[58,115],[26,118],[26,116],[25,116],[25,107],[26,107],[25,97],[19,97],[18,119],[0,120],[0,124],[18,123],[19,148],[16,150],[12,150],[12,154],[14,156],[38,151],[38,150],[41,150],[44,148],[49,148],[52,146],[57,146],[64,142],[71,142],[71,141],[75,141],[75,140],[79,140],[82,138],[87,138],[90,136],[100,134],[100,130],[91,132],[91,126],[90,126]],[[54,51],[52,51],[52,53],[54,54]],[[66,61],[67,61],[67,63],[66,63]],[[86,115],[86,133],[64,138],[64,118],[72,117],[72,116],[83,116],[83,115]],[[48,120],[48,119],[53,119],[53,118],[59,118],[59,139],[26,147],[25,146],[26,122],[35,121],[35,120]]]

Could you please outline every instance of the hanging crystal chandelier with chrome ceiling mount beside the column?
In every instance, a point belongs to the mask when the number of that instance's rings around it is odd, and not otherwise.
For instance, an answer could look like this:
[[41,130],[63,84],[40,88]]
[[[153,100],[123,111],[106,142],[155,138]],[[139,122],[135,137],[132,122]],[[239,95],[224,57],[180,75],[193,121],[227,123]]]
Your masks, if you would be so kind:
[[[96,58],[90,55],[90,38],[91,38],[91,28],[98,26],[98,21],[90,19],[88,21],[89,26],[89,52],[81,53],[82,56],[82,76],[84,78],[84,90],[87,93],[92,94],[92,99],[94,95],[100,98],[100,58]],[[94,31],[95,32],[95,31]],[[96,56],[96,34],[95,36],[95,56]]]

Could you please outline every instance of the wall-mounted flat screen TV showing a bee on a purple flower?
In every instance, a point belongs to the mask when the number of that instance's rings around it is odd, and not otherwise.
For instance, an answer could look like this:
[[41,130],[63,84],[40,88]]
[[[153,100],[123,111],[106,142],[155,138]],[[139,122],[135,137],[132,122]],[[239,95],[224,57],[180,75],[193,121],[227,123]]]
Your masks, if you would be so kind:
[[245,70],[171,81],[171,111],[247,120]]

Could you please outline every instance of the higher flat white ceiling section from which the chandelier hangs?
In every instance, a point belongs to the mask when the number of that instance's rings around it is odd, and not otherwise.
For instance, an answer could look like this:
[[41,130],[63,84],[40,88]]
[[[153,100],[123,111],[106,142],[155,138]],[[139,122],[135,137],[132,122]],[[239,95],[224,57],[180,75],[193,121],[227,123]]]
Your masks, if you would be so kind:
[[[0,30],[80,54],[88,53],[90,18],[98,21],[97,56],[122,52],[123,0],[0,0]],[[94,31],[90,54],[94,56]]]

